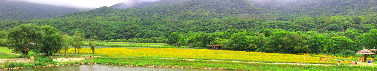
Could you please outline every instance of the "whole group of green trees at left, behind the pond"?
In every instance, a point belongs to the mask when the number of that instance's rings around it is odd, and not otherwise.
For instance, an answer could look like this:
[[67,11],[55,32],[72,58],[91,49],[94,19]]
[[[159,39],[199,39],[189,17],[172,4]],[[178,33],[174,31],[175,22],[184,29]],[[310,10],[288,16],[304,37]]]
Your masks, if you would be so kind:
[[[54,26],[44,25],[37,26],[35,24],[21,24],[9,31],[2,30],[0,35],[0,46],[6,46],[12,49],[13,53],[23,53],[28,56],[29,51],[35,53],[44,53],[46,56],[53,53],[66,50],[69,47],[75,48],[80,52],[85,37],[83,33],[75,33],[72,36],[66,32],[58,32]],[[89,42],[93,47],[93,42]],[[94,48],[92,48],[94,53]]]

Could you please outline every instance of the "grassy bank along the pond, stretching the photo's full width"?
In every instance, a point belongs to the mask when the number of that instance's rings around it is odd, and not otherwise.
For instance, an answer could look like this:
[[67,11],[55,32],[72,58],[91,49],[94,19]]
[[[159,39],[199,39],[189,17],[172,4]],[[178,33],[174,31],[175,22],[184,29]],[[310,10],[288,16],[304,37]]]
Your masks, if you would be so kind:
[[[192,68],[192,69],[219,69],[219,70],[240,70],[240,71],[375,71],[377,66],[322,66],[322,65],[283,65],[283,64],[262,64],[247,62],[227,62],[208,60],[182,60],[182,59],[142,59],[142,58],[120,58],[120,57],[95,57],[78,62],[46,62],[46,66],[14,67],[6,69],[40,68],[52,66],[71,66],[87,64],[122,65],[122,66],[143,66],[160,68]],[[25,64],[26,65],[26,64]],[[1,68],[0,70],[5,70]]]

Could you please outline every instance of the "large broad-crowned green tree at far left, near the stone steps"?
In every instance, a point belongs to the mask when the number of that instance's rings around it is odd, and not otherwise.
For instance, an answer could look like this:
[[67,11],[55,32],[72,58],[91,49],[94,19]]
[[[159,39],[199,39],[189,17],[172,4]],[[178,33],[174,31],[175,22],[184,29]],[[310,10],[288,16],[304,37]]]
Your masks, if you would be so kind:
[[[28,56],[30,50],[38,51],[38,44],[43,41],[45,34],[41,27],[35,24],[21,24],[8,32],[8,48],[13,49],[12,52],[25,52]],[[28,45],[34,44],[35,45]]]

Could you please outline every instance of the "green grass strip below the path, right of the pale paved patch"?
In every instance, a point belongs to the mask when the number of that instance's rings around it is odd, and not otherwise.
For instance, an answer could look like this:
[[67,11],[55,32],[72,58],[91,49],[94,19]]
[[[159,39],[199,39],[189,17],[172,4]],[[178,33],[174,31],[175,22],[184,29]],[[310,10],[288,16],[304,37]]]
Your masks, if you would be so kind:
[[170,66],[193,68],[225,68],[238,70],[262,70],[262,71],[375,71],[377,66],[313,66],[313,65],[280,65],[246,62],[217,62],[207,60],[178,60],[178,59],[140,59],[118,57],[96,57],[93,62],[110,63],[115,65],[139,65],[139,66]]

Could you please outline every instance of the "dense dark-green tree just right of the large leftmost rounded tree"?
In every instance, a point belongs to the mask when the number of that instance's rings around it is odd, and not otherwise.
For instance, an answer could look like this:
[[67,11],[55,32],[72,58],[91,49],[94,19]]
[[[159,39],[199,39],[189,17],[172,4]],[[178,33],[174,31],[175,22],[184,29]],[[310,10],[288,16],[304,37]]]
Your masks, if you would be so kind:
[[43,52],[46,56],[49,56],[51,53],[59,51],[62,47],[61,34],[57,33],[54,26],[46,25],[41,26],[41,28],[46,36],[44,37],[44,41],[41,42],[43,45],[41,46],[40,52]]

